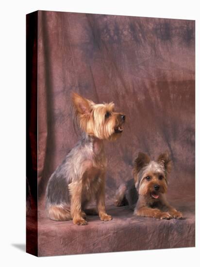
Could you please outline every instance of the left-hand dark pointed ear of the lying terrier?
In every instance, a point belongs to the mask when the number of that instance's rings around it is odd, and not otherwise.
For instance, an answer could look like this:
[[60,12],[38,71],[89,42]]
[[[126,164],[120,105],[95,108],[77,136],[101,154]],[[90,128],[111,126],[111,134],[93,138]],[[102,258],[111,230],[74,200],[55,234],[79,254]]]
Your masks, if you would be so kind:
[[145,153],[139,152],[137,158],[134,161],[134,167],[133,167],[133,178],[134,178],[136,189],[138,185],[137,174],[145,165],[149,163],[150,163],[150,157]]

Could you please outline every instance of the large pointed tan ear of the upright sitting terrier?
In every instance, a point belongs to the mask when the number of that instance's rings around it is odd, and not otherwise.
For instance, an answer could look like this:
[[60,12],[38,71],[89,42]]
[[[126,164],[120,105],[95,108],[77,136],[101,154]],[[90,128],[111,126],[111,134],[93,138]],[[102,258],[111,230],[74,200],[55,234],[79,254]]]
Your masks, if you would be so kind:
[[94,104],[92,101],[83,98],[77,93],[72,93],[72,102],[79,114],[89,114],[92,110],[91,104]]

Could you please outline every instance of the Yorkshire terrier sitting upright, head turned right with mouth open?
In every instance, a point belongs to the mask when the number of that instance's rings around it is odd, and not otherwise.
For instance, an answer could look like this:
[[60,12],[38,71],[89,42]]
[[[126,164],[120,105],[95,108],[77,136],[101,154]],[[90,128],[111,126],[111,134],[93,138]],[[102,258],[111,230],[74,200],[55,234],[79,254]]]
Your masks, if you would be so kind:
[[46,191],[46,208],[52,220],[73,220],[86,225],[86,209],[96,199],[100,219],[112,220],[105,211],[105,172],[107,161],[103,140],[116,140],[123,132],[125,115],[114,111],[114,103],[95,104],[73,93],[74,117],[83,131],[83,138],[68,153],[51,175]]

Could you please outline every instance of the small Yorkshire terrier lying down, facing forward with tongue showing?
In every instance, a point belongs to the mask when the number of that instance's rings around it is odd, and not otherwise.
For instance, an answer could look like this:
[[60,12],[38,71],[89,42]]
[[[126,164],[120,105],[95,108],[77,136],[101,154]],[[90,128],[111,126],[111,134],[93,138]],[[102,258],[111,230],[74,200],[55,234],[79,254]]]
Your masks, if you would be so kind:
[[157,161],[145,153],[139,153],[134,162],[134,183],[122,184],[117,190],[115,205],[129,204],[134,215],[159,219],[182,218],[182,213],[173,208],[166,199],[167,179],[171,160],[167,152]]

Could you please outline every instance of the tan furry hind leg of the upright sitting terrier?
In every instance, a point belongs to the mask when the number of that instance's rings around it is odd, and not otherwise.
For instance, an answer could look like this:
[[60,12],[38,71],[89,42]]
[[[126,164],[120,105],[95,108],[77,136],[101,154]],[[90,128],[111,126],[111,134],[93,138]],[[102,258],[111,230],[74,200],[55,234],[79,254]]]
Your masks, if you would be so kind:
[[48,217],[55,221],[67,221],[71,220],[70,209],[67,207],[52,205],[48,208]]

